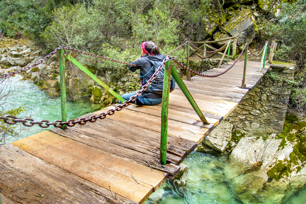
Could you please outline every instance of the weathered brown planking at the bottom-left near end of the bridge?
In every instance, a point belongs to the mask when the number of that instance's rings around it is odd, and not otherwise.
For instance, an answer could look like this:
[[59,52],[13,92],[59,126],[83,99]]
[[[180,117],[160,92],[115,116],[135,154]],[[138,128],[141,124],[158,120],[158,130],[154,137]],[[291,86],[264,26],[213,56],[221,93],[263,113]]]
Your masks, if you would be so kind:
[[[136,204],[11,144],[0,148],[0,191],[18,203]],[[3,199],[1,195],[1,198]],[[44,196],[43,196],[44,195]],[[3,201],[3,200],[2,200]]]

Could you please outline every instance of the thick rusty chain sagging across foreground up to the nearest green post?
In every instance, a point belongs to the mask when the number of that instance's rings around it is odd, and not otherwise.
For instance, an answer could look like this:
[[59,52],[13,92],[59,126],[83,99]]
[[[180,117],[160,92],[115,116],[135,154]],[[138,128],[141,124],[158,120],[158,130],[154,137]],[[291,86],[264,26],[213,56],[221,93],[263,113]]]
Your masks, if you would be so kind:
[[[135,101],[137,96],[140,96],[141,93],[145,90],[147,90],[147,87],[151,85],[152,81],[155,80],[156,76],[159,74],[160,70],[165,66],[166,62],[170,59],[173,59],[174,57],[167,56],[163,61],[162,64],[159,66],[156,72],[152,75],[152,77],[147,81],[146,84],[144,84],[140,90],[136,91],[136,94],[131,96],[129,100],[124,101],[122,104],[116,106],[114,109],[108,110],[106,113],[100,113],[98,116],[90,116],[88,118],[80,118],[78,120],[67,120],[65,122],[61,120],[55,120],[54,122],[49,122],[48,120],[40,120],[40,121],[34,121],[32,118],[23,118],[18,119],[16,116],[11,115],[5,115],[4,117],[0,117],[0,119],[4,120],[6,124],[9,125],[15,125],[17,123],[22,123],[24,126],[32,127],[34,124],[38,124],[41,128],[48,128],[50,125],[53,125],[56,128],[62,128],[63,125],[67,125],[69,127],[75,126],[75,124],[81,124],[84,125],[86,122],[95,122],[98,118],[104,119],[106,118],[106,115],[113,115],[115,111],[120,111],[123,107],[129,106],[130,102]],[[9,120],[13,119],[13,122],[10,122]],[[28,123],[29,122],[29,123]]]

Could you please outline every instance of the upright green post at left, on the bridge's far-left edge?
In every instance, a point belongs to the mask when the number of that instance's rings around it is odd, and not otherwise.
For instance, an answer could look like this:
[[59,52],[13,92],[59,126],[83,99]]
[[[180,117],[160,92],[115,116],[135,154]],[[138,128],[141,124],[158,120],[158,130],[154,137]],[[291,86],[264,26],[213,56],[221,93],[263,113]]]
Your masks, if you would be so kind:
[[[60,87],[61,87],[62,121],[67,121],[64,53],[65,53],[64,49],[59,50],[59,75],[60,75]],[[63,125],[63,129],[65,129],[66,127],[67,125]]]

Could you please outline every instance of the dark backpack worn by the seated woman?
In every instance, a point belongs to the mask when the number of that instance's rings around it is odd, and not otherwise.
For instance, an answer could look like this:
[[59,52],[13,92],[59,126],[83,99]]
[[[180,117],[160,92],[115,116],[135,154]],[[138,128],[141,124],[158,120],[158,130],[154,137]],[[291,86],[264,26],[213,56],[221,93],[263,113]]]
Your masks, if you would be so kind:
[[[150,60],[150,59],[148,59],[151,63],[152,63],[152,65],[153,65],[153,67],[154,67],[154,72],[156,72],[157,71],[157,69],[159,68],[159,66],[162,64],[162,61],[153,61],[153,60]],[[153,68],[152,67],[152,68]],[[151,69],[152,69],[151,68]],[[151,70],[150,70],[151,71]],[[150,72],[149,71],[149,72]],[[152,82],[152,83],[158,83],[159,85],[154,85],[153,86],[153,88],[152,88],[152,91],[153,91],[153,93],[155,93],[155,94],[158,94],[158,95],[161,95],[162,94],[162,87],[160,87],[160,84],[163,86],[163,82],[164,82],[164,72],[165,72],[165,69],[164,68],[162,68],[161,70],[160,70],[160,72],[158,73],[158,75],[156,75],[156,78],[155,78],[155,80]],[[172,91],[174,91],[174,89],[175,89],[175,81],[174,81],[174,78],[171,76],[171,80],[170,80],[170,93],[172,92]]]

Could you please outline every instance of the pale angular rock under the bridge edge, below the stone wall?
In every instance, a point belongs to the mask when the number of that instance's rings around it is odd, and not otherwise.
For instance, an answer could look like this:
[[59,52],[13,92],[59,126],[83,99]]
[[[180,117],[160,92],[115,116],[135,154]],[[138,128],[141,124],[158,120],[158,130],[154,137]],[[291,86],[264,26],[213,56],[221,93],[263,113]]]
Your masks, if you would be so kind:
[[224,152],[227,144],[232,139],[232,128],[233,124],[228,121],[222,122],[205,137],[202,143],[218,152]]

